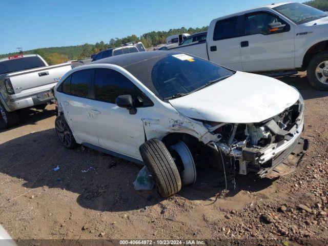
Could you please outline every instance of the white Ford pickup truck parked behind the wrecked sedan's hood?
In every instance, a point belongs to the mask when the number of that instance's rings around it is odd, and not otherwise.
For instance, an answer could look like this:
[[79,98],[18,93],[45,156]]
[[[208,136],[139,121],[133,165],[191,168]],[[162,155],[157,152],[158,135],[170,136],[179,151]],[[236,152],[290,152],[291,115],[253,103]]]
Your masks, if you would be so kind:
[[327,16],[300,3],[272,4],[214,19],[206,43],[173,49],[238,71],[282,76],[306,70],[313,87],[328,90]]

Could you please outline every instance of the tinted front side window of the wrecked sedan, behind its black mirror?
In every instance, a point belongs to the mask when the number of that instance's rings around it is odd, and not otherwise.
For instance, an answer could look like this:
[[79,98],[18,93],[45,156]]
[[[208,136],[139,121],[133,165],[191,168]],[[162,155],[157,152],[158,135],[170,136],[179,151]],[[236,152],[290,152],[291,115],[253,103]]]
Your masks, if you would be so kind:
[[136,107],[152,106],[144,95],[126,76],[112,69],[97,69],[94,78],[95,99],[115,104],[120,95],[131,95]]

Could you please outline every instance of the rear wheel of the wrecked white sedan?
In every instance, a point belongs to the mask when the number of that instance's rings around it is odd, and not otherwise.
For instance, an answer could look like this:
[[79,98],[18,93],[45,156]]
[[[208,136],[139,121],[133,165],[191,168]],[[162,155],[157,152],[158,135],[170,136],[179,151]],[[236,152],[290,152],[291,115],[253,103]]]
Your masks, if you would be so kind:
[[57,118],[55,120],[55,128],[56,128],[56,133],[57,133],[57,136],[58,136],[60,142],[67,149],[75,149],[78,147],[78,144],[75,141],[72,131],[69,128],[63,115],[57,116]]

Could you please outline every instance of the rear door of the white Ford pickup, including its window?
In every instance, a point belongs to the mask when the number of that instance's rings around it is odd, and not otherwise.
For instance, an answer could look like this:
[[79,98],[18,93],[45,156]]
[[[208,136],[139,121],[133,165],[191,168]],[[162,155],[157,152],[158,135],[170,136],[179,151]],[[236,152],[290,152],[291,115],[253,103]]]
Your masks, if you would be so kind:
[[208,33],[210,60],[227,68],[242,71],[238,36],[237,16],[217,20],[214,29]]

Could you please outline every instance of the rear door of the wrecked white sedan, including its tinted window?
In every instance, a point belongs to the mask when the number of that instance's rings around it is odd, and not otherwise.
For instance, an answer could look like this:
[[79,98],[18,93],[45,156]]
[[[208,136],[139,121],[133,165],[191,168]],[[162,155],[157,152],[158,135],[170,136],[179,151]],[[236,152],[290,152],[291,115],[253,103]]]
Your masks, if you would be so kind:
[[61,85],[60,102],[73,135],[82,142],[99,146],[94,127],[96,103],[91,98],[94,69],[80,70],[70,75]]

